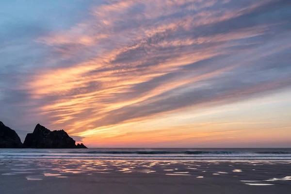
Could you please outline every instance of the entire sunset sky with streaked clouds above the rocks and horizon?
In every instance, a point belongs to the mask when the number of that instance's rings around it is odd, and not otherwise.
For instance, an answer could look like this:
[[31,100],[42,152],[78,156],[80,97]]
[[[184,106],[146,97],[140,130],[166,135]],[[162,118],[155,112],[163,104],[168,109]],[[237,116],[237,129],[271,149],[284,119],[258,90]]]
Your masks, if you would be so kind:
[[89,147],[291,147],[290,0],[2,0],[0,121]]

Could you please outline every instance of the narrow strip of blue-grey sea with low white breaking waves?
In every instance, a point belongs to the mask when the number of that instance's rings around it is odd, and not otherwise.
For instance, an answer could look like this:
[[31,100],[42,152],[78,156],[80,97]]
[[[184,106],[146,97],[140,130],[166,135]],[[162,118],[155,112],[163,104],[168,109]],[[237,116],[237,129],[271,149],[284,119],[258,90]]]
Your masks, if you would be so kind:
[[0,159],[291,161],[291,148],[0,149]]

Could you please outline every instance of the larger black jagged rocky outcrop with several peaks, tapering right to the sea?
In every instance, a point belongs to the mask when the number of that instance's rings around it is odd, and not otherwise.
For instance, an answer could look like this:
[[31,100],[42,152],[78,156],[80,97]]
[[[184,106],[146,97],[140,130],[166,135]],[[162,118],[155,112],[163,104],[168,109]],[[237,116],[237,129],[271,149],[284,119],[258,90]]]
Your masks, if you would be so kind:
[[64,130],[54,130],[36,125],[32,133],[28,133],[23,146],[25,148],[87,148],[83,144],[75,145],[75,140]]

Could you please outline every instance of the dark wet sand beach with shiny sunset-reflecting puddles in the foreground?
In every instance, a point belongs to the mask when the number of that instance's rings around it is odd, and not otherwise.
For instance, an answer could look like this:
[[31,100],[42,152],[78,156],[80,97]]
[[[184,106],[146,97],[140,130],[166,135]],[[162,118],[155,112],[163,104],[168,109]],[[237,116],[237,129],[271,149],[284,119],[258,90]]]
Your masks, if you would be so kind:
[[0,194],[289,194],[291,162],[0,160]]

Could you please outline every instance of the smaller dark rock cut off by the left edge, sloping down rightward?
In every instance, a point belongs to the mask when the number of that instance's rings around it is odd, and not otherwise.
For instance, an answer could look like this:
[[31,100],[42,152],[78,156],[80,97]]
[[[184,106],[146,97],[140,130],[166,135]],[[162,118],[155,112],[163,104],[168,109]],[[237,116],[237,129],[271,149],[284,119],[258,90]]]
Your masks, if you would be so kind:
[[0,148],[21,148],[22,143],[15,130],[0,121]]

